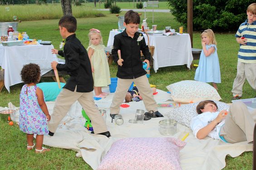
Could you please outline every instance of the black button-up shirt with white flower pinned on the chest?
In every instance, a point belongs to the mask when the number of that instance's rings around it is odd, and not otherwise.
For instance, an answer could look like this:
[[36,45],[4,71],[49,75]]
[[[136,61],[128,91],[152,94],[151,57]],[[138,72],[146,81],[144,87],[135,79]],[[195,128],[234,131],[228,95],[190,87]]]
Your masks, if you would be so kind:
[[118,65],[117,77],[121,79],[133,79],[147,74],[143,69],[140,51],[143,52],[145,59],[150,61],[150,52],[146,45],[145,38],[137,41],[142,33],[135,33],[133,38],[129,37],[126,29],[123,33],[119,33],[114,37],[112,57],[117,63],[118,50],[121,50],[121,58],[123,59],[123,66]]

